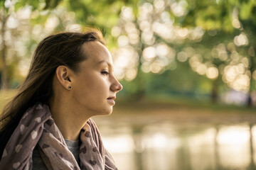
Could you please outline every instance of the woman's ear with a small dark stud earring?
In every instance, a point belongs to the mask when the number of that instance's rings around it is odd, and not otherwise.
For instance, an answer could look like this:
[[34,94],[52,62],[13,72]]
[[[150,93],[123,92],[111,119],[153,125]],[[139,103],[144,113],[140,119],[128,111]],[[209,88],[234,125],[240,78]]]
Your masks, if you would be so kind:
[[71,89],[71,70],[66,66],[59,66],[55,73],[60,84],[63,85],[65,89]]

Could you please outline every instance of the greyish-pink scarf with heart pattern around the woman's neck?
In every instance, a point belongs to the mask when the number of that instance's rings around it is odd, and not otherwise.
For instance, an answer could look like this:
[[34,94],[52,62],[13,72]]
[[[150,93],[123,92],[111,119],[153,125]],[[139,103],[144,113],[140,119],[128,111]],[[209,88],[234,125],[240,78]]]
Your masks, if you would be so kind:
[[63,135],[51,118],[48,106],[36,104],[21,118],[7,142],[0,169],[32,170],[32,153],[38,145],[48,169],[117,170],[114,161],[102,144],[100,132],[89,119],[80,132],[80,165],[65,144]]

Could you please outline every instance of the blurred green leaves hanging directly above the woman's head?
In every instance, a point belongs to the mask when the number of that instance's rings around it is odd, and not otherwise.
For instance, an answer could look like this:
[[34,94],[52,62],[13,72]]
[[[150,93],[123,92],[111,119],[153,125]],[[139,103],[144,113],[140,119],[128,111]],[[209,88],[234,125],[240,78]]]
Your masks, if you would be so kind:
[[75,12],[75,18],[82,26],[95,26],[110,34],[110,29],[117,24],[122,6],[137,7],[138,0],[64,0],[63,6]]

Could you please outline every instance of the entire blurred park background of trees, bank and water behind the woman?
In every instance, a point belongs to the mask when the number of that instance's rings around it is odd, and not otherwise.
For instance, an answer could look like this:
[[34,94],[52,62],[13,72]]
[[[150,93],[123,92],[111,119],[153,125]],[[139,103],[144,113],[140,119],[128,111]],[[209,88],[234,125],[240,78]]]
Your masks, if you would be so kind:
[[0,0],[0,108],[40,40],[88,26],[112,53],[112,115],[94,118],[121,170],[255,169],[255,0]]

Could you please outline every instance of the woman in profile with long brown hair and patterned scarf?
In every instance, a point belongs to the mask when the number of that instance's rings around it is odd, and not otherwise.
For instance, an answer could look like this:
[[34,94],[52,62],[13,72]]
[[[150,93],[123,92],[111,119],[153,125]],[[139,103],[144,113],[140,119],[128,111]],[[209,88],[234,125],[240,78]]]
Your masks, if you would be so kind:
[[0,169],[117,169],[91,117],[121,89],[100,32],[43,39],[2,114]]

